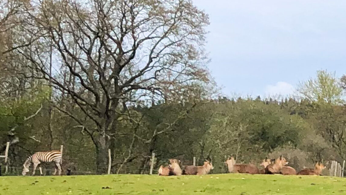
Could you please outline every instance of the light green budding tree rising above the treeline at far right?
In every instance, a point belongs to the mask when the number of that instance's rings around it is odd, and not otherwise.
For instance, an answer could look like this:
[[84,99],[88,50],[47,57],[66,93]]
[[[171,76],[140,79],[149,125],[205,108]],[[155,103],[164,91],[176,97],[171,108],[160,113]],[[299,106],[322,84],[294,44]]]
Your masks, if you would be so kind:
[[[308,80],[300,88],[301,94],[308,101],[303,100],[298,108],[314,129],[307,136],[307,139],[311,138],[308,144],[310,149],[305,150],[315,154],[315,160],[330,151],[329,144],[334,148],[334,152],[329,152],[329,155],[334,155],[334,159],[345,157],[345,116],[342,105],[344,80],[336,78],[335,73],[322,70],[317,72],[316,79]],[[316,140],[320,140],[319,143]]]

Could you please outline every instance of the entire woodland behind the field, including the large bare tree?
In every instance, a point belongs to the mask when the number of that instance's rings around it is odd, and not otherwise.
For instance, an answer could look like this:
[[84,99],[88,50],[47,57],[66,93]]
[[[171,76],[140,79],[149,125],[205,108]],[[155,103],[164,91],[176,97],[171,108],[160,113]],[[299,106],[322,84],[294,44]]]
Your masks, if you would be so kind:
[[10,142],[12,173],[60,145],[75,174],[106,173],[108,149],[112,173],[148,173],[152,152],[155,170],[195,156],[214,173],[230,155],[283,154],[298,170],[345,159],[346,77],[317,71],[291,97],[223,95],[208,24],[190,0],[0,0],[0,153]]

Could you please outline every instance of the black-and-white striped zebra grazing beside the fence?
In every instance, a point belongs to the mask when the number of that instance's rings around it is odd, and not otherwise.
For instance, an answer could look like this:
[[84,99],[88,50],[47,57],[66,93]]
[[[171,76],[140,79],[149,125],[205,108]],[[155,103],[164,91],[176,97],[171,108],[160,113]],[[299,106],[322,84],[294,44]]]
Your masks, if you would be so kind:
[[62,159],[62,154],[60,151],[49,151],[49,152],[36,152],[33,155],[28,156],[28,158],[25,160],[23,164],[23,171],[22,175],[26,175],[27,172],[29,172],[29,167],[31,163],[34,164],[34,170],[33,170],[33,175],[35,175],[36,167],[39,166],[40,174],[43,175],[42,173],[42,168],[41,164],[42,163],[49,163],[53,162],[55,163],[55,169],[53,175],[56,174],[56,170],[58,170],[58,175],[61,174],[61,159]]

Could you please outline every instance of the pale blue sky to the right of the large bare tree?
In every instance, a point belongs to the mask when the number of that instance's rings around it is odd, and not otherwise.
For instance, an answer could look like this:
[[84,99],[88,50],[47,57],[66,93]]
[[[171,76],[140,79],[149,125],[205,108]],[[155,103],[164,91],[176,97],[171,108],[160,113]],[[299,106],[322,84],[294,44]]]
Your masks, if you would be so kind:
[[345,0],[194,0],[210,17],[209,69],[228,95],[292,93],[346,73]]

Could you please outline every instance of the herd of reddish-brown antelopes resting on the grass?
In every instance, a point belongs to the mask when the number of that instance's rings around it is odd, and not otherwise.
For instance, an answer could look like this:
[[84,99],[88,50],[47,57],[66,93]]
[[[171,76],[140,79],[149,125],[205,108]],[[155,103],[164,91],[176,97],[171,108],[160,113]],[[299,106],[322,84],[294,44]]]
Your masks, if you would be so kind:
[[[183,170],[180,168],[180,160],[170,159],[167,167],[160,166],[158,175],[160,176],[180,176],[180,175],[206,175],[213,169],[213,165],[209,161],[205,161],[203,166],[185,166]],[[263,169],[258,169],[254,164],[237,164],[233,157],[225,162],[230,173],[249,173],[249,174],[282,174],[282,175],[321,175],[325,166],[317,162],[313,169],[302,169],[297,171],[287,166],[288,161],[281,155],[277,159],[264,159],[260,164]]]

